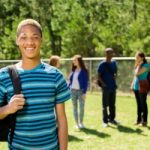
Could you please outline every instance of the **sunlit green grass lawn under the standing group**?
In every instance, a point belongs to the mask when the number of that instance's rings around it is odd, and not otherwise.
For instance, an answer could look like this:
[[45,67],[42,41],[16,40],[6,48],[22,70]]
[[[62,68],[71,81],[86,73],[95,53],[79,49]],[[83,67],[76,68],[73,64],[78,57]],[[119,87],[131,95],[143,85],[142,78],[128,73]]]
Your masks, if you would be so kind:
[[[102,127],[101,96],[97,93],[88,94],[85,105],[85,129],[75,128],[71,100],[66,103],[69,126],[68,150],[149,150],[150,126],[137,127],[136,103],[131,96],[117,96],[116,120],[121,125]],[[148,96],[150,110],[150,96]],[[150,120],[150,117],[149,119]],[[149,123],[150,125],[150,123]],[[6,144],[0,143],[0,150],[7,150]]]

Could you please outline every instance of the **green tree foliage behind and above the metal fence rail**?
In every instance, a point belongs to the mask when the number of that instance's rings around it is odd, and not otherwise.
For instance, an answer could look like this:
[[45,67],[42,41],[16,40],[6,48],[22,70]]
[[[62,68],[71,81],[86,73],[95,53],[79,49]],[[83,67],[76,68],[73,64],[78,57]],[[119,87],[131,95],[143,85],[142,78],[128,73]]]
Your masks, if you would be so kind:
[[113,47],[117,56],[137,50],[148,55],[149,6],[149,0],[1,0],[0,59],[19,59],[16,28],[25,18],[43,27],[43,58],[103,56],[105,47]]

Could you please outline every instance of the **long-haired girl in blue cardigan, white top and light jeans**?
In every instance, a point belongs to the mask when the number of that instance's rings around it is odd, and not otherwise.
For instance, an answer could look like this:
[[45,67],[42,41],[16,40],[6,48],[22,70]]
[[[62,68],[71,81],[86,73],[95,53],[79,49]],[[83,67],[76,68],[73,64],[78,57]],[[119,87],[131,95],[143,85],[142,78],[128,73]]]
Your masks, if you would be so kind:
[[[88,70],[80,55],[72,59],[72,72],[69,77],[69,86],[72,95],[73,114],[77,128],[84,128],[85,96],[88,89]],[[78,109],[79,106],[79,109]]]

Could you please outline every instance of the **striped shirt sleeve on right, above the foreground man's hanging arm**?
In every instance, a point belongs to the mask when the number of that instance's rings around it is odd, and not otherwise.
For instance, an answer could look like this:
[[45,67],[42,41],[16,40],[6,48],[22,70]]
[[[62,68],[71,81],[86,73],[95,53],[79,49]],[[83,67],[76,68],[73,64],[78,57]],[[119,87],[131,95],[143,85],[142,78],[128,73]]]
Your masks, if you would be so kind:
[[63,103],[70,99],[70,89],[61,72],[56,75],[56,104]]

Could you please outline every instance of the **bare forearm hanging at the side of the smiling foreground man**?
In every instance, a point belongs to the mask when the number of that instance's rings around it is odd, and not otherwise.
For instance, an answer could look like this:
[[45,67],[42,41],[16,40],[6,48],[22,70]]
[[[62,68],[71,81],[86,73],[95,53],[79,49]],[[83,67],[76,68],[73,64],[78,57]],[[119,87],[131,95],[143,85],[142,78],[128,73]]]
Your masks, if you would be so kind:
[[56,105],[56,115],[58,121],[58,140],[59,140],[59,150],[67,150],[68,146],[68,124],[65,113],[65,104]]

